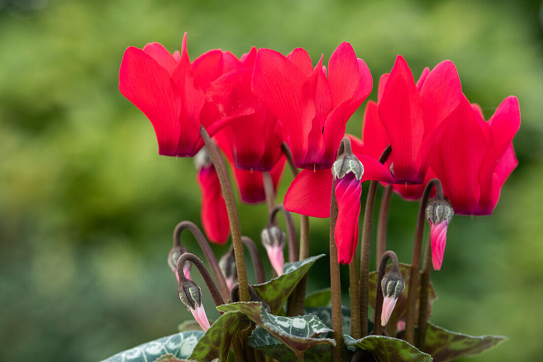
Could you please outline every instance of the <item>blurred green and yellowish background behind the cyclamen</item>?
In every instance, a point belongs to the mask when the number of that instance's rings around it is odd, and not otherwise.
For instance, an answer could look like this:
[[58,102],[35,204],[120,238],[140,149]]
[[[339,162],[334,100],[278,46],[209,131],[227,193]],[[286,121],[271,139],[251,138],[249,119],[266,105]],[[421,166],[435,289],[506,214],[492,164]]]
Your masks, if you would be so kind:
[[[304,47],[326,62],[350,41],[375,81],[396,54],[415,78],[451,59],[487,117],[516,95],[519,167],[491,217],[454,218],[443,269],[432,276],[432,321],[510,337],[478,361],[539,360],[540,9],[541,1],[0,0],[0,359],[96,361],[190,319],[166,255],[177,222],[200,224],[192,161],[159,157],[150,122],[118,91],[125,48],[159,41],[173,51],[188,32],[192,58],[254,45]],[[348,132],[359,135],[361,125],[358,111]],[[280,198],[291,180],[285,172]],[[389,246],[404,262],[417,207],[393,197]],[[258,239],[266,207],[239,208],[243,233]],[[327,223],[311,220],[312,254],[328,249]],[[188,234],[183,242],[201,254]],[[217,255],[225,249],[214,246]],[[309,290],[329,286],[327,261],[310,276]]]

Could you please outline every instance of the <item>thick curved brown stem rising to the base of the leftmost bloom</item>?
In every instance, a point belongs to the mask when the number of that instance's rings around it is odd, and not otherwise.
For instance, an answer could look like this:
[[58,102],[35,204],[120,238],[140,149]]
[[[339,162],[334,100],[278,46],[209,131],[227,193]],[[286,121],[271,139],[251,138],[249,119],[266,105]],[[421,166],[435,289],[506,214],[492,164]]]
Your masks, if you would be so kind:
[[204,126],[200,127],[200,135],[205,142],[207,152],[213,161],[217,176],[219,177],[220,188],[223,191],[226,210],[228,211],[228,220],[230,221],[230,232],[232,233],[232,244],[234,246],[234,254],[236,256],[236,269],[239,282],[239,296],[243,302],[248,302],[249,284],[247,280],[247,270],[245,270],[245,257],[243,255],[243,245],[241,242],[241,226],[239,225],[239,216],[236,208],[236,201],[232,192],[230,178],[226,172],[224,161],[219,154],[217,145],[211,140]]

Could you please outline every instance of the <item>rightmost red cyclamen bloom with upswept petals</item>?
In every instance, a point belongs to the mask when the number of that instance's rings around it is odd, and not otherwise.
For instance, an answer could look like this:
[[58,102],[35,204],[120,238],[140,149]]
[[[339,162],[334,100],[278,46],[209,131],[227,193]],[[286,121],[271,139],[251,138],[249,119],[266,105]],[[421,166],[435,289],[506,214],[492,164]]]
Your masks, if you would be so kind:
[[518,164],[512,141],[519,127],[519,102],[514,96],[507,97],[488,122],[481,109],[463,97],[443,122],[432,168],[454,213],[492,213]]

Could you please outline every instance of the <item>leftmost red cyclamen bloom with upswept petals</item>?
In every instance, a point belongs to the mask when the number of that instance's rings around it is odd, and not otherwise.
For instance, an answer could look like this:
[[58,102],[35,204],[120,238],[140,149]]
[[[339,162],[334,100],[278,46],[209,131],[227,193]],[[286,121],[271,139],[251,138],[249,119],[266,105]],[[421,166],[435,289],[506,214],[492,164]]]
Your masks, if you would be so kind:
[[124,52],[119,90],[153,124],[160,154],[192,157],[204,145],[200,125],[210,135],[224,126],[214,105],[205,103],[205,90],[236,67],[236,60],[231,53],[214,49],[191,63],[186,33],[181,53],[172,55],[159,43]]

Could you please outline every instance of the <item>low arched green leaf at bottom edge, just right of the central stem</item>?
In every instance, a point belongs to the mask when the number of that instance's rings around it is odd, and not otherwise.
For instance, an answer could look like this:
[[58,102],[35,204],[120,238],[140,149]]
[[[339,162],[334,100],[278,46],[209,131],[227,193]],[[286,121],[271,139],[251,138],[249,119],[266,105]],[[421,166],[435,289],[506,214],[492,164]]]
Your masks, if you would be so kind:
[[369,351],[377,362],[431,362],[430,354],[420,352],[406,341],[384,335],[368,335],[361,339],[353,339],[344,335],[344,343],[348,348],[357,347]]

